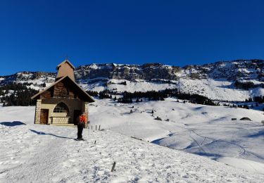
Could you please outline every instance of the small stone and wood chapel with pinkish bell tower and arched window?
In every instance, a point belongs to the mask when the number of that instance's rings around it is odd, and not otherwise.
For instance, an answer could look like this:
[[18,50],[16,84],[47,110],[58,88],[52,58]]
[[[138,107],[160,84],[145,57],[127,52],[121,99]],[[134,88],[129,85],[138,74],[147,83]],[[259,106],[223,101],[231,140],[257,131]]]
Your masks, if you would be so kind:
[[56,69],[56,81],[31,98],[37,99],[34,123],[76,125],[83,112],[89,119],[88,103],[94,99],[75,82],[75,67],[66,59]]

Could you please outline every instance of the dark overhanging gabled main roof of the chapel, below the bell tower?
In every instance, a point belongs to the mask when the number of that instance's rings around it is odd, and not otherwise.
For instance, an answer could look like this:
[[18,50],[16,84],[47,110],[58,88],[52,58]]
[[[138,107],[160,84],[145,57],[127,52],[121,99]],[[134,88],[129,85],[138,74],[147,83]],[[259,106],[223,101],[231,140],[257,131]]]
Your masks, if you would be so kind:
[[31,99],[38,99],[40,94],[46,92],[51,87],[54,87],[58,82],[61,82],[61,81],[64,81],[64,80],[68,82],[68,85],[69,85],[69,87],[71,89],[74,89],[77,92],[78,96],[80,96],[80,99],[82,101],[88,101],[90,103],[95,101],[94,98],[92,98],[92,96],[89,96],[89,94],[87,94],[87,92],[85,92],[84,89],[82,89],[82,87],[79,86],[79,84],[77,84],[75,81],[70,79],[70,77],[68,77],[68,75],[65,75],[64,77],[61,77],[59,80],[57,80],[56,82],[51,84],[49,87],[46,87],[45,89],[43,89],[39,93],[37,93],[34,96],[32,96]]

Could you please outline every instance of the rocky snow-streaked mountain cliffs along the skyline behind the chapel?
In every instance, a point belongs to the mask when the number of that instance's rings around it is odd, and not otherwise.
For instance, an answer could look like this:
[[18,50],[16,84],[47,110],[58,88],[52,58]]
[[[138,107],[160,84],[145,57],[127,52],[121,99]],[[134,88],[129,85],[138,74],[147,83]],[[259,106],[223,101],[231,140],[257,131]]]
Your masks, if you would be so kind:
[[[181,92],[201,94],[222,101],[244,101],[264,94],[264,61],[239,60],[183,68],[146,63],[144,65],[90,64],[76,68],[75,77],[84,89],[100,92],[135,92],[177,88]],[[42,89],[54,82],[55,73],[18,72],[0,77],[0,85],[28,83]]]

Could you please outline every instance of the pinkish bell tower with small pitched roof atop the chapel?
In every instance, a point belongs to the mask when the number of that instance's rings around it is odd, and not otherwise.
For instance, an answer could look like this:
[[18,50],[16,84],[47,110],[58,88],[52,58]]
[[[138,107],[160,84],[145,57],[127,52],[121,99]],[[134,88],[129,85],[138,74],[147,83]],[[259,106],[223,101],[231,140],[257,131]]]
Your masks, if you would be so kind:
[[68,75],[70,79],[75,81],[75,77],[74,77],[75,67],[73,66],[72,63],[70,63],[70,61],[67,58],[65,59],[65,61],[63,61],[56,67],[56,70],[58,70],[56,80],[60,79],[61,77],[64,77],[65,75]]

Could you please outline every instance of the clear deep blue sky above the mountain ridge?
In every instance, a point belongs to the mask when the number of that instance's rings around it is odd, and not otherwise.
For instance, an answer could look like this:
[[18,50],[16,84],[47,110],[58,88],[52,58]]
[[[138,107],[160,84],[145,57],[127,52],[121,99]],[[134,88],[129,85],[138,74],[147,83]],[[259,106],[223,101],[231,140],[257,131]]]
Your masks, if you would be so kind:
[[0,0],[0,75],[89,63],[264,59],[264,1]]

